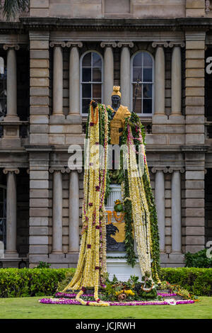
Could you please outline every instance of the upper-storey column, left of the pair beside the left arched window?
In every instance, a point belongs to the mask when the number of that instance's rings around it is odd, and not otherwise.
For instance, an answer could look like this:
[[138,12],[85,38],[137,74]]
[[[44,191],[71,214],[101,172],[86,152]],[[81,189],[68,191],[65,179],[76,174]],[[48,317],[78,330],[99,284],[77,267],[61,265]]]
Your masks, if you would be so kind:
[[62,47],[66,43],[51,42],[50,47],[54,47],[53,55],[53,111],[52,115],[57,118],[64,118],[63,113],[63,51]]

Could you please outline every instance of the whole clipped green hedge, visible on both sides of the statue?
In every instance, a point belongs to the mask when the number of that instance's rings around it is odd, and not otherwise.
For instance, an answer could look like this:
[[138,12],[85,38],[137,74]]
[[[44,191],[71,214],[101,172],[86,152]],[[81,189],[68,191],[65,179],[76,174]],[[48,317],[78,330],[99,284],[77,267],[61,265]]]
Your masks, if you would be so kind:
[[[0,269],[0,298],[54,295],[75,269]],[[179,284],[196,296],[212,296],[212,269],[165,268],[161,281]],[[61,285],[61,283],[60,283]]]

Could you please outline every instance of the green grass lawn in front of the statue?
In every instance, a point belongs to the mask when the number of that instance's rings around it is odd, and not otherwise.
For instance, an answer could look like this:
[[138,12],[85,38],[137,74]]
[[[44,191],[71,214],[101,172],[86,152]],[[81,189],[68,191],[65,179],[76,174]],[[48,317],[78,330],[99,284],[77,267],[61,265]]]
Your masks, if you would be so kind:
[[212,319],[212,297],[188,305],[89,307],[41,304],[39,297],[0,298],[0,319]]

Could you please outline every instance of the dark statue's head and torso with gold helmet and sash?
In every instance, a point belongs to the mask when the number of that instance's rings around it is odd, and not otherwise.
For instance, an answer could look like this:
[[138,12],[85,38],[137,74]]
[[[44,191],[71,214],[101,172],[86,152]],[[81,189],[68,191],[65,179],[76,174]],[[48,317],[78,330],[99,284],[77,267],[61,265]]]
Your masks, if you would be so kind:
[[112,111],[112,120],[110,120],[110,137],[112,145],[119,145],[122,136],[125,118],[131,116],[127,106],[121,105],[120,87],[114,86],[112,91],[112,106],[107,106]]

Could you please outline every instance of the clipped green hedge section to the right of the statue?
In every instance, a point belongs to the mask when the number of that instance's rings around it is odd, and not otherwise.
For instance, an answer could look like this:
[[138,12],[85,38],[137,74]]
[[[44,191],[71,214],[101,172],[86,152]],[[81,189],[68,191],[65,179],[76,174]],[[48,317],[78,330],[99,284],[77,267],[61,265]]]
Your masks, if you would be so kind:
[[212,269],[165,268],[160,271],[161,281],[179,284],[196,296],[212,296]]

